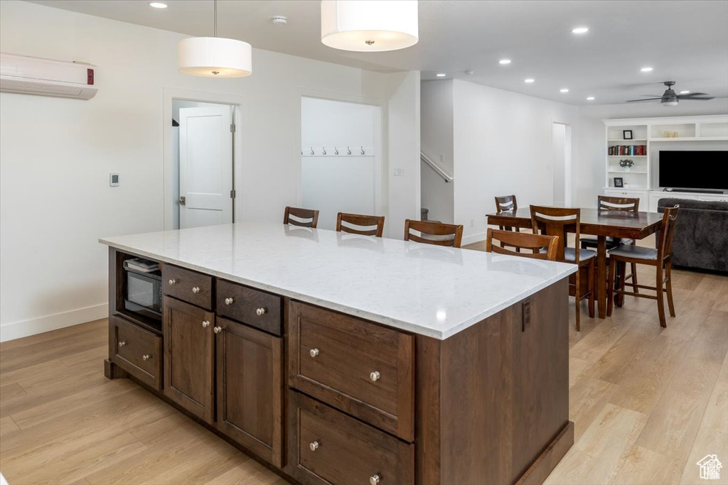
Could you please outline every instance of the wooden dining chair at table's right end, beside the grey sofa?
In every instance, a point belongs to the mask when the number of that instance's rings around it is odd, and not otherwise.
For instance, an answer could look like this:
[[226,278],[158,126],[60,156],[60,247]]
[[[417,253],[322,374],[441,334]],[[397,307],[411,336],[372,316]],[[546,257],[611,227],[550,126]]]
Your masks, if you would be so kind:
[[[665,302],[663,293],[667,293],[668,295],[668,309],[670,310],[670,316],[675,316],[673,285],[670,273],[673,267],[672,255],[673,236],[675,236],[675,221],[677,220],[679,209],[679,205],[666,207],[665,212],[662,213],[662,223],[660,224],[660,232],[657,233],[658,241],[656,249],[651,247],[635,246],[633,244],[620,244],[609,252],[609,274],[612,275],[612,281],[609,282],[609,298],[606,303],[607,316],[612,316],[614,294],[627,294],[633,297],[649,298],[650,300],[657,300],[657,315],[660,317],[660,326],[662,326],[662,328],[666,328],[668,324],[665,321]],[[625,266],[627,263],[636,262],[642,265],[654,266],[654,286],[644,284],[638,284],[637,286],[638,288],[652,290],[655,294],[625,291],[625,271],[624,269],[617,270],[616,266]]]

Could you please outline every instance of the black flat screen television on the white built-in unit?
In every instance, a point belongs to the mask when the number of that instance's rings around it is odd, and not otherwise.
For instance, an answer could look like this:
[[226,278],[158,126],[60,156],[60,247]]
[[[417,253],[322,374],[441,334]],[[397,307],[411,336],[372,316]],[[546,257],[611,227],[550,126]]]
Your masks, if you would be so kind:
[[728,151],[660,150],[657,167],[662,188],[728,190]]

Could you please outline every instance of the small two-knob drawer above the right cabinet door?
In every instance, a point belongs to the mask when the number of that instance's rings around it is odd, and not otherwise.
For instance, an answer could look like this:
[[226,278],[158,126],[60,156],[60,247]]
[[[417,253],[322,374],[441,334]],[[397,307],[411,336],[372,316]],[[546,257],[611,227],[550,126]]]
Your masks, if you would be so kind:
[[255,326],[274,335],[281,332],[282,298],[277,294],[242,286],[223,279],[217,280],[218,315]]

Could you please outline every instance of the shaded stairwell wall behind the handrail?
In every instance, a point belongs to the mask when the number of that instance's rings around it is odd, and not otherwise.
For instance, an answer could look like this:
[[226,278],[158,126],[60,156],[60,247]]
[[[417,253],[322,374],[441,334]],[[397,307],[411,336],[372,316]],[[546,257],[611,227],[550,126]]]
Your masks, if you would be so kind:
[[[423,81],[421,89],[422,153],[453,175],[453,81]],[[424,161],[421,170],[421,201],[422,207],[430,209],[428,218],[452,223],[454,183],[446,182]]]

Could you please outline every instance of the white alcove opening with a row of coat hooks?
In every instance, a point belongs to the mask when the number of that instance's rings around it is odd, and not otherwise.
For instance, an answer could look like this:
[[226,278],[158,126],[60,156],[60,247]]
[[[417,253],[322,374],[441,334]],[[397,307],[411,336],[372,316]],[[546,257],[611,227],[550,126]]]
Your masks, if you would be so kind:
[[380,136],[377,105],[301,97],[301,204],[319,228],[338,212],[382,215]]

